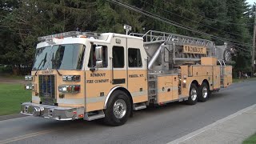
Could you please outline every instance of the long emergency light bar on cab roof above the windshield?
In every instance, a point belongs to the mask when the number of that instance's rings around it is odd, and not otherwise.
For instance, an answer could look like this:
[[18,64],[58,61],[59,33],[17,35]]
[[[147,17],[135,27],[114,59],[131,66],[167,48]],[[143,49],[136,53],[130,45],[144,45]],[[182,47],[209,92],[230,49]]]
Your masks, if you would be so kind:
[[52,35],[47,35],[47,36],[43,36],[43,37],[38,37],[38,41],[39,42],[45,42],[46,39],[67,38],[67,37],[77,38],[78,36],[86,36],[88,38],[90,38],[90,37],[98,38],[99,36],[101,36],[101,34],[94,33],[94,32],[69,31],[69,32],[66,32],[66,33],[52,34]]

